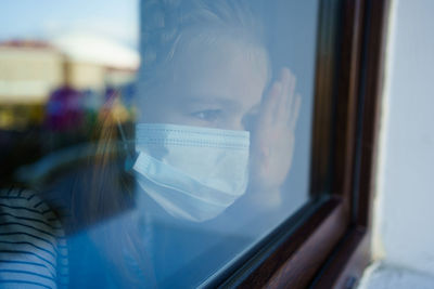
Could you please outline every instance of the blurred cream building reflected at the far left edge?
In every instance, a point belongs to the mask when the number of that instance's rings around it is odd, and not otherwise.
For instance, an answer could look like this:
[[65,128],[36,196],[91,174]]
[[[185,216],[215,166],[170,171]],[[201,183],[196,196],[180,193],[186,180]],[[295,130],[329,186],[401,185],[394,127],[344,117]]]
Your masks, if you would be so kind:
[[64,55],[40,41],[0,43],[0,129],[43,119],[43,104],[63,83]]

